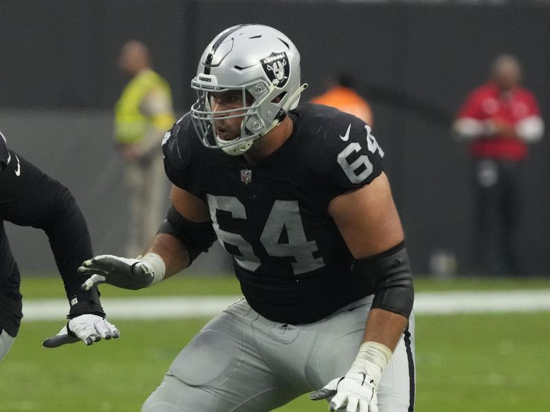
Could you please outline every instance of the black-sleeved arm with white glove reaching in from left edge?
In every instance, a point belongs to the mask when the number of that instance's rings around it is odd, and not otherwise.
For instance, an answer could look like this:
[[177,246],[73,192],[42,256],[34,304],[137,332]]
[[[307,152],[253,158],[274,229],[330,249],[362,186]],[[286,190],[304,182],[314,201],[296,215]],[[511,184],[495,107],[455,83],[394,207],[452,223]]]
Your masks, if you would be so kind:
[[[5,139],[0,141],[5,145]],[[98,289],[80,290],[85,277],[78,273],[78,265],[93,253],[88,227],[74,196],[21,155],[10,150],[8,156],[9,165],[6,162],[5,170],[0,170],[0,216],[16,225],[44,231],[70,303],[69,321],[43,345],[58,347],[78,341],[91,345],[101,339],[118,338],[118,329],[105,319]]]

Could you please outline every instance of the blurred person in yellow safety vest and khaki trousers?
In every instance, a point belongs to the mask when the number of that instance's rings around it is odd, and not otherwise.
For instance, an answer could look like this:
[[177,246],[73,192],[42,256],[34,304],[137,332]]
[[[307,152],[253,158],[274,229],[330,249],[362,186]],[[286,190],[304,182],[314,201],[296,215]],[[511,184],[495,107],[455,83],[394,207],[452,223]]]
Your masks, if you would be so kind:
[[160,145],[175,117],[170,86],[151,69],[146,45],[135,40],[124,44],[118,67],[131,78],[115,105],[114,138],[126,163],[129,191],[126,253],[137,256],[157,231],[168,205]]

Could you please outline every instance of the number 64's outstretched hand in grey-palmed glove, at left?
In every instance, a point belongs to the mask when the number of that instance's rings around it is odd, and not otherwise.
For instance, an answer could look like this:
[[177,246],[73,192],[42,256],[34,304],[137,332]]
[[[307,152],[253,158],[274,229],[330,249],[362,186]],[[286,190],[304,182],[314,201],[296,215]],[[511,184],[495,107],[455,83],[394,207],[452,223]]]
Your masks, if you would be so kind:
[[78,271],[89,275],[82,290],[89,290],[102,283],[124,289],[141,289],[149,286],[155,277],[153,269],[146,262],[113,255],[98,255],[87,260]]

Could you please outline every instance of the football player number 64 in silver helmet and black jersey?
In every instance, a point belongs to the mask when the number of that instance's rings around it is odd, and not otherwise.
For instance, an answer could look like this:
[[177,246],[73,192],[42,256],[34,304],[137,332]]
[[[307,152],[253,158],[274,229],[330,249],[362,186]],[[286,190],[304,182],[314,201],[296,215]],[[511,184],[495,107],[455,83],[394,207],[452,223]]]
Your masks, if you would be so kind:
[[300,104],[300,55],[265,25],[221,32],[166,134],[172,207],[140,259],[100,255],[87,289],[151,286],[217,238],[244,298],[175,358],[142,411],[412,411],[413,287],[384,152],[362,120]]

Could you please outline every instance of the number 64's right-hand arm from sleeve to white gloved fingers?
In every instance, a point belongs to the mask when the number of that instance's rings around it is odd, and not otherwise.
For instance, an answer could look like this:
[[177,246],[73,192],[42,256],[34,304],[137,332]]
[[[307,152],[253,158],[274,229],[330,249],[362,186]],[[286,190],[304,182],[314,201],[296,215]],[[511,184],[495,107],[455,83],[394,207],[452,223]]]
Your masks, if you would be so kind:
[[[414,297],[404,233],[386,174],[334,198],[329,213],[353,254],[357,269],[371,279],[375,297],[364,343],[351,368],[342,378],[312,393],[311,398],[334,396],[331,409],[335,410],[349,402],[368,404],[369,411],[371,407],[376,410],[376,389],[382,370],[406,328]],[[355,407],[349,407],[347,410],[355,411]]]

